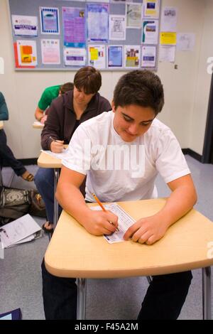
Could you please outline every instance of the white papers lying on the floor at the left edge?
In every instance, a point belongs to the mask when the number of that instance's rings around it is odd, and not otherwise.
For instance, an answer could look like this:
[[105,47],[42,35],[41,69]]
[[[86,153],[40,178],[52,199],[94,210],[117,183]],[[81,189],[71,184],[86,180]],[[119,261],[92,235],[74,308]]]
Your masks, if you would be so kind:
[[15,244],[21,244],[37,238],[40,232],[40,226],[33,220],[31,215],[24,215],[0,227],[1,244],[4,248],[9,248]]

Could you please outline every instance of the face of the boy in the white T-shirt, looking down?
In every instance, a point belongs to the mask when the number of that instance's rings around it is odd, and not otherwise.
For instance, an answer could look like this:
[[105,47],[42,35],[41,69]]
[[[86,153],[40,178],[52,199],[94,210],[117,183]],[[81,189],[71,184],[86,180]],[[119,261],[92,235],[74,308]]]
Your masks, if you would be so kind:
[[145,134],[155,118],[155,112],[151,107],[140,107],[136,104],[115,109],[112,102],[112,110],[114,129],[126,142],[134,141],[138,136]]

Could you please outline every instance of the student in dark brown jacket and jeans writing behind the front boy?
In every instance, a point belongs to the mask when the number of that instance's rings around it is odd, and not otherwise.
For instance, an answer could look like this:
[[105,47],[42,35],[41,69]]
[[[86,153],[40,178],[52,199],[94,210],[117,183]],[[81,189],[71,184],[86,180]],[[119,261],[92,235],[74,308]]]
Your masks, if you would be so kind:
[[[65,92],[50,105],[48,119],[41,133],[44,150],[62,152],[63,145],[69,144],[73,132],[82,122],[102,112],[111,110],[107,99],[99,95],[102,85],[101,73],[90,66],[77,71],[74,90]],[[35,185],[45,202],[48,222],[43,225],[45,232],[53,232],[54,175],[52,168],[39,168]]]

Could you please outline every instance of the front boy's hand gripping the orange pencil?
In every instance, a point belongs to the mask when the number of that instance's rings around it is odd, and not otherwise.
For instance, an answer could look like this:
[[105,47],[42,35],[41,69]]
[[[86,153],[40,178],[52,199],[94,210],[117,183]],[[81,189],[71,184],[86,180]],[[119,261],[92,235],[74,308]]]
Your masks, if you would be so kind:
[[112,235],[118,227],[118,217],[110,211],[90,210],[84,227],[91,235]]

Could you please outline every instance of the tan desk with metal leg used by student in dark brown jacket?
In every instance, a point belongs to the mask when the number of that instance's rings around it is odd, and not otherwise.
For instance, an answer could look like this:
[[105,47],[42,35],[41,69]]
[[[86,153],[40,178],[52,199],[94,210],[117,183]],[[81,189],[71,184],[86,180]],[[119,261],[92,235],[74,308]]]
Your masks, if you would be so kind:
[[[45,152],[41,152],[40,156],[38,158],[38,166],[42,168],[54,168],[54,193],[56,191],[58,178],[59,178],[59,171],[62,166],[61,160],[58,158],[55,158],[53,156],[49,156]],[[58,200],[56,200],[54,196],[54,227],[58,222]]]

